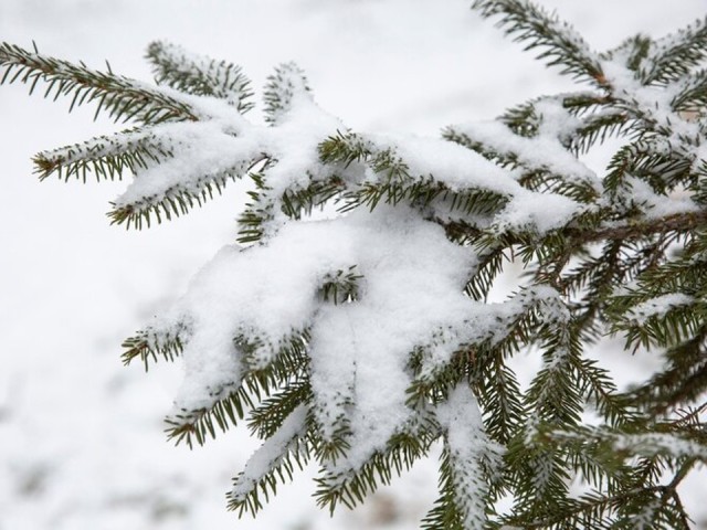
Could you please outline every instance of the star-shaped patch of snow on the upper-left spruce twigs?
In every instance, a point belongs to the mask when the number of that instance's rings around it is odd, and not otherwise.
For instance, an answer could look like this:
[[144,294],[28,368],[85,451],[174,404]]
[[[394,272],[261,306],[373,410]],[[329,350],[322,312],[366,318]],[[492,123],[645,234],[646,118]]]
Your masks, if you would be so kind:
[[[278,97],[283,98],[272,121],[275,127],[251,124],[214,97],[178,95],[175,97],[198,109],[202,120],[157,125],[141,136],[127,132],[126,140],[143,140],[151,152],[170,156],[160,156],[159,163],[148,160],[147,167],[138,167],[130,186],[114,200],[115,208],[149,211],[180,193],[199,198],[212,184],[223,187],[226,180],[243,177],[265,160],[271,166],[264,170],[267,193],[273,198],[279,198],[286,189],[306,187],[310,178],[321,178],[325,169],[318,162],[317,146],[344,125],[314,103],[302,86],[300,73],[292,68],[284,65],[278,70],[279,85],[273,88],[282,92]],[[175,93],[170,88],[165,92]],[[276,219],[271,224],[282,224],[278,209],[273,213]]]

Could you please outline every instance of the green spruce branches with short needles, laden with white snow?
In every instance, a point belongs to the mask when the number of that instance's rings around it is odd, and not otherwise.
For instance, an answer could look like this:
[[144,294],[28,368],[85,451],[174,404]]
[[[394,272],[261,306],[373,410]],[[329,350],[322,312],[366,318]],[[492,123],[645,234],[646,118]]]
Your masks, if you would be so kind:
[[[689,528],[677,487],[707,460],[707,21],[595,53],[527,0],[473,8],[581,88],[428,139],[350,130],[295,64],[250,120],[238,66],[165,42],[147,52],[156,85],[7,43],[0,74],[128,124],[34,158],[40,179],[133,176],[115,224],[251,180],[239,243],[123,344],[126,364],[183,359],[170,438],[241,423],[262,438],[230,509],[255,515],[309,460],[317,502],[354,507],[440,441],[423,528]],[[597,174],[580,156],[615,136]],[[509,263],[525,275],[489,303]],[[663,368],[618,389],[588,354],[608,335]],[[523,388],[510,361],[528,350],[542,365]]]

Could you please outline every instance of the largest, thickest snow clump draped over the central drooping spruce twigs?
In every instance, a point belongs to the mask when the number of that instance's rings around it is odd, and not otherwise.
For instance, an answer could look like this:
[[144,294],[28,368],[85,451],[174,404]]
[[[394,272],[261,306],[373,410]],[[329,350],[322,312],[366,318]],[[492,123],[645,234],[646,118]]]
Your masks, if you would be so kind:
[[[350,266],[362,275],[360,299],[324,303],[318,292],[327,275]],[[358,467],[410,417],[404,400],[412,349],[442,326],[462,328],[481,318],[483,304],[463,295],[473,266],[471,253],[403,206],[294,223],[268,245],[225,247],[157,324],[169,330],[187,321],[191,329],[177,407],[198,409],[209,399],[204,389],[239,380],[243,361],[234,337],[274,344],[250,359],[263,368],[282,340],[310,329],[317,420],[329,437],[347,407],[354,436],[348,463]]]

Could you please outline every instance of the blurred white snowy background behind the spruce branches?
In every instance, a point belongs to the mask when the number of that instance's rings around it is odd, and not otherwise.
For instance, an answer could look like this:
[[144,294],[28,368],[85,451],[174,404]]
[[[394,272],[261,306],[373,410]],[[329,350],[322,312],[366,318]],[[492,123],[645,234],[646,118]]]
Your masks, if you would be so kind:
[[[317,102],[358,130],[439,135],[571,86],[468,3],[0,0],[0,40],[34,40],[94,67],[108,59],[114,71],[150,80],[145,46],[167,39],[243,65],[256,95],[274,65],[294,60]],[[707,12],[704,0],[540,3],[600,50]],[[0,530],[374,528],[387,509],[397,519],[386,528],[414,528],[434,498],[435,463],[335,522],[317,512],[300,477],[257,521],[236,523],[223,494],[253,443],[243,432],[191,453],[165,442],[179,368],[125,369],[119,343],[233,241],[242,188],[148,231],[109,226],[104,212],[124,184],[32,176],[34,152],[116,128],[67,107],[0,87]],[[685,496],[696,506],[707,487],[693,480]]]

